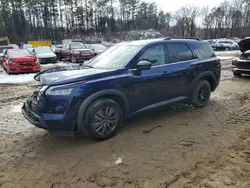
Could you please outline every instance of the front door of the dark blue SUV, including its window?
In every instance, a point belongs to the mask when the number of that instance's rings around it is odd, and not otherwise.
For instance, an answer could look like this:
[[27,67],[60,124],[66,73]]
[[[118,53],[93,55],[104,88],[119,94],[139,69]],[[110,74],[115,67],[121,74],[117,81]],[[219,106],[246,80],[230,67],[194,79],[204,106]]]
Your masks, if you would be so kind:
[[151,62],[152,68],[140,72],[129,70],[129,103],[131,104],[131,112],[172,97],[170,88],[173,85],[168,80],[171,70],[167,64],[164,44],[149,46],[141,53],[134,64],[141,60]]

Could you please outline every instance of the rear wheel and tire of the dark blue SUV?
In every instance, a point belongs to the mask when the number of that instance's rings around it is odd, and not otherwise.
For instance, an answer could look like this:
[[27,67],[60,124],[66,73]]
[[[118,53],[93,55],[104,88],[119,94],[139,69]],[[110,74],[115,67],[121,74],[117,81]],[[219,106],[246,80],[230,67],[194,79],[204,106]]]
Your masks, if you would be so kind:
[[192,103],[196,108],[202,108],[208,105],[211,96],[211,85],[206,80],[200,80],[194,92]]

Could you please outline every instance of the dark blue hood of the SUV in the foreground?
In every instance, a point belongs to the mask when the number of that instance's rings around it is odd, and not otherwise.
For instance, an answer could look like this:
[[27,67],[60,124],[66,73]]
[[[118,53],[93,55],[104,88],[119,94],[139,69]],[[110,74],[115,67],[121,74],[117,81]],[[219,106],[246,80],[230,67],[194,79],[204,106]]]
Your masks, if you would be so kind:
[[96,74],[106,73],[113,70],[85,68],[80,70],[61,71],[46,73],[40,76],[42,85],[68,84],[71,82],[82,81],[86,76],[95,76]]

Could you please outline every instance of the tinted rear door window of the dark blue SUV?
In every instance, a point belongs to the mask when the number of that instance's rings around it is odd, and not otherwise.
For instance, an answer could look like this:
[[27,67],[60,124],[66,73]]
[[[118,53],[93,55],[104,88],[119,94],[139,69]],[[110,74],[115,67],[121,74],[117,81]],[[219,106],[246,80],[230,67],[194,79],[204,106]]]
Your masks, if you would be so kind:
[[169,63],[195,59],[189,47],[184,43],[168,44]]

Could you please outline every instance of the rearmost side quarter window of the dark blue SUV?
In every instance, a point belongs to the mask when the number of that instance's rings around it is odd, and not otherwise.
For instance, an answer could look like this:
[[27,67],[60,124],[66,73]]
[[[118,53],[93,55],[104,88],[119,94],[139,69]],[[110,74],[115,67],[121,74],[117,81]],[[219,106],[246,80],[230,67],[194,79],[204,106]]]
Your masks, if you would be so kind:
[[215,57],[213,48],[207,42],[196,42],[188,44],[199,59]]

